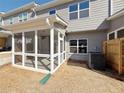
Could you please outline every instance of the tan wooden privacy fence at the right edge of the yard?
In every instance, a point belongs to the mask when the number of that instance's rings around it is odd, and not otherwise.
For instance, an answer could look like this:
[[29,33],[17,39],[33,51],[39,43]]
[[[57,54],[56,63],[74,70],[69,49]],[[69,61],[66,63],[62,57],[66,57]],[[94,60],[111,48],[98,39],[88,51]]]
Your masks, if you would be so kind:
[[124,38],[105,41],[103,53],[108,66],[119,74],[124,73]]

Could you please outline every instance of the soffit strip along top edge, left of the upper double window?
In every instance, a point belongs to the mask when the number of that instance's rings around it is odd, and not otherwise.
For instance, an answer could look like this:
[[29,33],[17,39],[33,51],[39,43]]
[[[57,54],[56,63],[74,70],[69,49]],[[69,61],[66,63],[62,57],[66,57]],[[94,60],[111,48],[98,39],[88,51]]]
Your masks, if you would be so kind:
[[54,7],[54,6],[57,6],[60,4],[65,4],[65,3],[68,3],[70,1],[74,1],[74,0],[52,0],[51,2],[42,4],[38,7],[36,7],[35,9],[36,9],[36,11],[39,11],[39,10],[47,9],[47,8]]

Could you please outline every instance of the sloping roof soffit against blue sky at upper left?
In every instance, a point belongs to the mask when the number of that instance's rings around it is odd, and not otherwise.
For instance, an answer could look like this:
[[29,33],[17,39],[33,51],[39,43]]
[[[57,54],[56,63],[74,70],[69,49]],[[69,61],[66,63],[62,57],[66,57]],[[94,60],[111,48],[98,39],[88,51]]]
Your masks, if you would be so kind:
[[35,2],[31,2],[31,3],[28,3],[28,4],[26,4],[26,5],[21,6],[21,7],[19,7],[19,8],[16,8],[16,9],[14,9],[14,10],[11,10],[11,11],[9,11],[9,12],[7,12],[7,13],[4,13],[4,14],[2,15],[2,17],[10,16],[10,15],[19,13],[19,12],[21,12],[21,11],[25,11],[25,10],[27,10],[27,9],[34,8],[34,7],[36,7],[36,6],[38,6],[38,4],[36,4]]

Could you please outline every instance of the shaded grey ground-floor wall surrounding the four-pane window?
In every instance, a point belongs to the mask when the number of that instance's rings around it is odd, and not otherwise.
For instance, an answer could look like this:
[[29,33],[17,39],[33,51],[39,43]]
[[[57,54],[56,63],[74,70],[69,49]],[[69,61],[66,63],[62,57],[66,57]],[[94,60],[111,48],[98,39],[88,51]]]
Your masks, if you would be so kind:
[[98,31],[90,31],[90,32],[80,32],[80,33],[68,33],[66,40],[66,52],[67,58],[75,59],[75,60],[84,60],[88,61],[89,54],[70,54],[69,41],[77,40],[77,39],[88,39],[88,52],[101,52],[103,41],[107,38],[107,33],[98,32]]

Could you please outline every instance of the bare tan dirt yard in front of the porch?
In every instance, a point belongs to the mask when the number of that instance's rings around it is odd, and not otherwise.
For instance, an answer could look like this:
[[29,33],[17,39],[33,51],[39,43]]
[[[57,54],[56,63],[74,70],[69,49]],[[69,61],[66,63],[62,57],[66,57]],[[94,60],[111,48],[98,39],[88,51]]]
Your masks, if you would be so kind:
[[40,85],[44,74],[0,68],[0,93],[124,93],[124,82],[65,62],[47,84]]

